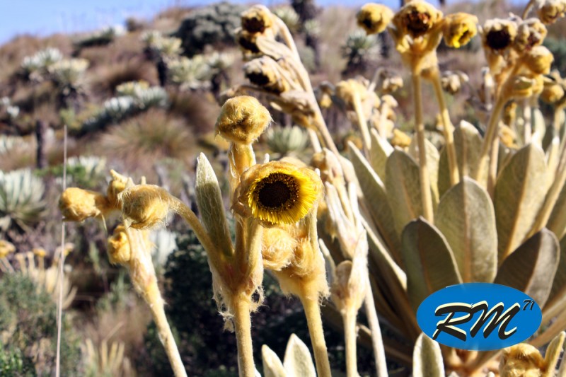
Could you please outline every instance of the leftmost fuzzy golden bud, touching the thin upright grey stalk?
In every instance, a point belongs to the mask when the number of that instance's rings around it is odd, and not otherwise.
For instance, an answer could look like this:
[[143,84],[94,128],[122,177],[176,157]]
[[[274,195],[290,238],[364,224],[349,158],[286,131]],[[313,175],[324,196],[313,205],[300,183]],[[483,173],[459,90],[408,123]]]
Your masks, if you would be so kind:
[[65,221],[102,216],[107,208],[108,201],[104,195],[78,187],[69,187],[59,198],[59,209]]

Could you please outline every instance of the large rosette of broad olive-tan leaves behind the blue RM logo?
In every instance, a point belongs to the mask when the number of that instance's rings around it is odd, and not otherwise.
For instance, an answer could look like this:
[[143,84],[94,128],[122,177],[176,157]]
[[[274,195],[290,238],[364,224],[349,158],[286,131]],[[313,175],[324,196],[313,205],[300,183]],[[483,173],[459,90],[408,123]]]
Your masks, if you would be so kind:
[[[533,127],[544,132],[540,111],[534,113]],[[422,218],[415,142],[406,150],[393,149],[372,132],[366,156],[350,144],[364,198],[361,207],[366,209],[369,270],[379,277],[376,308],[403,342],[416,342],[417,308],[434,291],[463,282],[504,284],[524,291],[541,306],[542,330],[529,340],[541,347],[566,326],[566,189],[560,186],[564,171],[558,161],[545,162],[550,146],[543,150],[541,139],[516,151],[500,146],[502,163],[490,195],[470,178],[482,145],[478,130],[462,122],[454,141],[463,177],[452,187],[446,153],[426,144],[434,221]],[[558,199],[553,192],[560,192]],[[387,334],[386,349],[395,344]],[[421,354],[424,343],[417,342],[415,358],[430,356],[426,362],[444,362],[460,376],[482,369],[497,356],[462,351],[454,363],[443,361],[440,352]],[[406,350],[405,360],[410,360],[412,351]],[[398,354],[390,356],[402,361]]]

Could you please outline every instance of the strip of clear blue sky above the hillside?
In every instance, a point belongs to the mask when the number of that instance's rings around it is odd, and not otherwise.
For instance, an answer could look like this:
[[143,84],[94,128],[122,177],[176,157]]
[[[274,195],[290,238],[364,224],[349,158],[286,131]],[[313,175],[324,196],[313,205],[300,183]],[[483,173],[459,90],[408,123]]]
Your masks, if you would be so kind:
[[[376,0],[374,0],[376,1]],[[379,0],[378,0],[379,1]],[[0,44],[18,34],[50,35],[96,30],[123,24],[129,16],[151,18],[168,6],[197,6],[212,0],[0,0]],[[284,0],[240,0],[240,3],[279,4]],[[359,6],[364,0],[317,0],[318,4]],[[381,2],[381,1],[379,1]],[[386,0],[395,6],[398,1]]]

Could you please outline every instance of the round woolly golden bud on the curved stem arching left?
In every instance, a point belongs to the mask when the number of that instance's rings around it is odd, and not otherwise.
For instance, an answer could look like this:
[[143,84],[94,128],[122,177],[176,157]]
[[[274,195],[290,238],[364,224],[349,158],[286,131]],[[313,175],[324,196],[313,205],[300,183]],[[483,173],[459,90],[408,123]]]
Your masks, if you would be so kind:
[[122,214],[132,228],[149,229],[163,224],[171,208],[171,195],[156,185],[135,185],[119,195]]

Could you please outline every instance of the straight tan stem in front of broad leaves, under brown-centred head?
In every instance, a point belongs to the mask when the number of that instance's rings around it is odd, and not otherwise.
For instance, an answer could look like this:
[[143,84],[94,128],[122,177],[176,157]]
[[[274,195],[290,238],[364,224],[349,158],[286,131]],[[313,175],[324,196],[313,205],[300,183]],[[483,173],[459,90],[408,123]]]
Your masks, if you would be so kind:
[[432,213],[432,193],[430,190],[430,178],[427,167],[427,149],[424,144],[424,122],[422,120],[422,98],[420,75],[413,70],[412,72],[412,92],[415,102],[415,133],[417,134],[417,144],[419,146],[419,175],[420,175],[420,195],[422,200],[422,215],[429,222],[434,221]]

